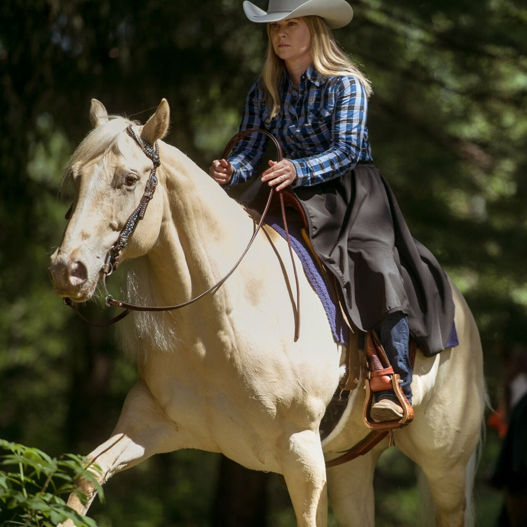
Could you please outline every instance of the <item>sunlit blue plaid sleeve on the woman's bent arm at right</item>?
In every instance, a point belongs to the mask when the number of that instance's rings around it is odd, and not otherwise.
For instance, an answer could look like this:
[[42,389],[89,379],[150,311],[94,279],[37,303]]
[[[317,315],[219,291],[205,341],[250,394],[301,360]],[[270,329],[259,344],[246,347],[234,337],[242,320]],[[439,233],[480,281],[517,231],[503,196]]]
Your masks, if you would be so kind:
[[343,76],[340,81],[335,93],[329,149],[290,160],[297,171],[292,187],[310,187],[337,178],[357,164],[366,130],[367,96],[354,77]]

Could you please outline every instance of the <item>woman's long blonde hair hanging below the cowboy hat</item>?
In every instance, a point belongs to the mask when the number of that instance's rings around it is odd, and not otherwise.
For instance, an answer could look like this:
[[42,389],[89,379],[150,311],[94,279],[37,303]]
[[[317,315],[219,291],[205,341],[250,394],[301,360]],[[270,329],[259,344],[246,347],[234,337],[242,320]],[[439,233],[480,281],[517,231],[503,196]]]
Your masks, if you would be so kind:
[[[333,33],[324,22],[316,16],[304,16],[311,34],[311,56],[315,70],[324,76],[353,75],[366,91],[366,96],[373,93],[372,84],[335,41]],[[264,81],[264,98],[271,109],[270,118],[280,112],[280,86],[285,71],[285,62],[277,56],[271,44],[270,24],[267,26],[267,56],[262,67],[261,78]]]

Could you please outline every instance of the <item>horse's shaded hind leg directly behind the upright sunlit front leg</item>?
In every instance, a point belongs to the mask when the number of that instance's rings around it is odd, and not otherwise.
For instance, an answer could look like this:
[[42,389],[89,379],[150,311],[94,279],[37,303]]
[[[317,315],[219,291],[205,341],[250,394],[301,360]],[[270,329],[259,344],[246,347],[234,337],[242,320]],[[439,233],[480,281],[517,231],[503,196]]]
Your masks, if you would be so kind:
[[341,527],[373,527],[373,475],[382,449],[328,469],[331,508]]

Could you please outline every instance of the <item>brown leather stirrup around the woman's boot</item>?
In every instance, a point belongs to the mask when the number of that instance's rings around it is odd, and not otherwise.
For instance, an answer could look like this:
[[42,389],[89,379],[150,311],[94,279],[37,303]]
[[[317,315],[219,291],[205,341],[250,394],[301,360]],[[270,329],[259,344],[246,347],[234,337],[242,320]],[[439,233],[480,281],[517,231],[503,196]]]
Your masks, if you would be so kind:
[[[412,405],[403,393],[401,382],[398,374],[394,373],[392,366],[383,346],[377,337],[375,331],[368,331],[364,339],[364,349],[361,350],[364,362],[364,382],[366,388],[366,398],[363,405],[363,421],[368,428],[372,430],[394,430],[410,424],[414,418]],[[376,423],[370,417],[372,409],[373,395],[386,389],[393,389],[399,404],[403,408],[403,417],[393,421],[383,421]]]

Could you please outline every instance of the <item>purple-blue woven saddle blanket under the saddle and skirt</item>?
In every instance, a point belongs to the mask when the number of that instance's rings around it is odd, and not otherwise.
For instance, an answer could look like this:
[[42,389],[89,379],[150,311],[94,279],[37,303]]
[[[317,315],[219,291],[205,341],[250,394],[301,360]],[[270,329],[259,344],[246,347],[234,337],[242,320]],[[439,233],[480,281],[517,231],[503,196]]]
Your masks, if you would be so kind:
[[[284,229],[284,222],[281,217],[270,216],[266,218],[266,223],[276,230],[279,235],[287,239],[286,231]],[[300,260],[302,267],[306,273],[306,277],[311,284],[311,287],[315,290],[324,309],[326,311],[326,316],[328,318],[329,326],[331,327],[331,333],[333,333],[333,338],[338,344],[348,344],[348,328],[344,321],[344,317],[340,311],[340,307],[336,305],[333,297],[329,294],[326,281],[324,276],[315,260],[315,257],[311,251],[307,248],[304,239],[302,238],[301,226],[296,221],[291,221],[287,223],[287,228],[289,231],[289,238],[291,240],[291,247],[295,251],[298,259]],[[452,323],[452,332],[448,341],[446,343],[447,348],[453,348],[459,344],[457,339],[457,332],[454,323]]]

